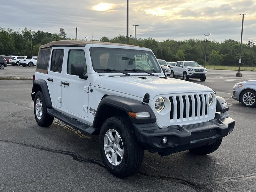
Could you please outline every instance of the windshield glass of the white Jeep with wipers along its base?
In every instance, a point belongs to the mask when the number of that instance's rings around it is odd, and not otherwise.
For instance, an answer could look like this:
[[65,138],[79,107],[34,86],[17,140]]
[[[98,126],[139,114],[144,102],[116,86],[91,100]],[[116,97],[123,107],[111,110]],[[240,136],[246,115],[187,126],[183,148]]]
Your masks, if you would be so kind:
[[150,51],[92,47],[90,48],[90,53],[92,67],[96,72],[118,73],[118,71],[129,71],[129,73],[161,73],[160,66]]

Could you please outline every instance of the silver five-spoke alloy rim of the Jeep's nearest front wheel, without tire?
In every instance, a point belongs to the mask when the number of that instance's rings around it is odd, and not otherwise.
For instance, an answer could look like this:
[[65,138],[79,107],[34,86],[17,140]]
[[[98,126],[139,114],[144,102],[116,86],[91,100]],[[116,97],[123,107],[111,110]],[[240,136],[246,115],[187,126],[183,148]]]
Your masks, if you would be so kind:
[[110,164],[119,165],[124,157],[124,145],[119,133],[109,129],[104,136],[104,151]]

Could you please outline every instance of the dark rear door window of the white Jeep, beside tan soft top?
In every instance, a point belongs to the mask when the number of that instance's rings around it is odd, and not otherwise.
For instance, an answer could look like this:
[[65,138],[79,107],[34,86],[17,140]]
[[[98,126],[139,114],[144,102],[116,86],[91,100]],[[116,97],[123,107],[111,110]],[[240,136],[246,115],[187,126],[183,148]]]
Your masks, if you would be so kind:
[[63,63],[63,49],[54,49],[52,51],[52,60],[51,60],[51,71],[61,72],[62,63]]

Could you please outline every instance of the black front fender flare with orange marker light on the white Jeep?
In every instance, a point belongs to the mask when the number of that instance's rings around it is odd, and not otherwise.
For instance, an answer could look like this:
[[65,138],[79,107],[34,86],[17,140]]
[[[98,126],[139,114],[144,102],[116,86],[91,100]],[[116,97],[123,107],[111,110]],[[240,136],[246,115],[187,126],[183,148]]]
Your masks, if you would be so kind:
[[[98,108],[96,110],[96,114],[94,117],[93,125],[92,125],[93,128],[99,129],[101,127],[101,125],[106,120],[106,118],[103,118],[103,116],[104,117],[111,116],[111,114],[108,114],[110,113],[110,111],[105,111],[108,108],[115,108],[119,111],[121,110],[122,112],[126,113],[130,121],[134,124],[156,122],[156,116],[148,104],[145,104],[142,101],[133,100],[130,98],[125,98],[125,97],[115,96],[115,95],[108,95],[104,97],[98,105]],[[129,116],[128,114],[129,111],[135,112],[135,113],[149,112],[150,117],[134,118]]]

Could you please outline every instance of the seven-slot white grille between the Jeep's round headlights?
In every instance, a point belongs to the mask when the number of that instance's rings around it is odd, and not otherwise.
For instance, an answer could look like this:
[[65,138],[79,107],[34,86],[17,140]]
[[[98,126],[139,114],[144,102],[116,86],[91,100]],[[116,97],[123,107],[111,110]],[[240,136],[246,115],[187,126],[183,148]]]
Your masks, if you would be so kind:
[[208,115],[208,94],[178,95],[171,96],[169,99],[171,102],[170,120],[192,120]]

